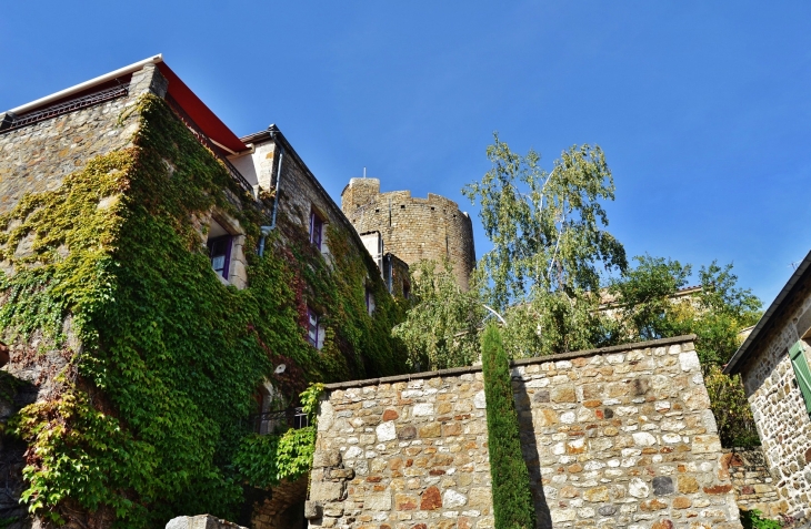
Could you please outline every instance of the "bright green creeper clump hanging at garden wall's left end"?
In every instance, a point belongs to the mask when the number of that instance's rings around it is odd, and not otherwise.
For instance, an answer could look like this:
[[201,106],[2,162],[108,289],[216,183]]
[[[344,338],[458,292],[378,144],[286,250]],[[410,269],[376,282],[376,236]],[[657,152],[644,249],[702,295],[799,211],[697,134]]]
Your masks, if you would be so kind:
[[296,480],[310,471],[322,391],[323,384],[312,384],[299,397],[310,426],[290,428],[281,435],[254,434],[242,439],[233,464],[248,485],[271,487],[282,479]]

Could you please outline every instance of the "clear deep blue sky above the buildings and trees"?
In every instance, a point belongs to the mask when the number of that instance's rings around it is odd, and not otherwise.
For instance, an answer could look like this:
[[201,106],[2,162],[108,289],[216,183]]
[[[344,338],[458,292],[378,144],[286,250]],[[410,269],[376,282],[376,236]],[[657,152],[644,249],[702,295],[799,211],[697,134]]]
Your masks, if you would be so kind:
[[[228,123],[457,200],[513,150],[599,144],[629,255],[734,263],[768,304],[811,247],[811,3],[6,2],[0,108],[163,53]],[[474,217],[477,254],[488,241]]]

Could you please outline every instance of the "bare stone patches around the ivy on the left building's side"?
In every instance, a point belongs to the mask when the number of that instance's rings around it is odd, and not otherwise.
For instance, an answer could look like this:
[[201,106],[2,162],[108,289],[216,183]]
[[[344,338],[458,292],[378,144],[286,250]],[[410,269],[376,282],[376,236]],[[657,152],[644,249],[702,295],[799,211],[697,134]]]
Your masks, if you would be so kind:
[[[0,131],[0,215],[13,210],[28,193],[59,189],[67,175],[82,170],[89,160],[131,144],[139,125],[138,114],[129,112],[126,120],[120,120],[122,113],[147,91],[163,94],[166,82],[153,64],[121,82],[129,83],[124,96],[20,129]],[[18,257],[32,252],[34,237],[26,241],[30,244],[18,247]],[[13,275],[14,266],[2,261],[0,272]],[[57,374],[68,365],[72,352],[80,350],[70,315],[63,321],[62,333],[67,337],[64,347],[56,347],[40,332],[28,340],[0,335],[0,340],[9,343],[10,356],[0,373],[0,519],[18,517],[19,527],[30,521],[27,506],[19,501],[24,489],[22,468],[27,447],[19,439],[2,435],[2,426],[23,406],[42,401],[59,389]]]

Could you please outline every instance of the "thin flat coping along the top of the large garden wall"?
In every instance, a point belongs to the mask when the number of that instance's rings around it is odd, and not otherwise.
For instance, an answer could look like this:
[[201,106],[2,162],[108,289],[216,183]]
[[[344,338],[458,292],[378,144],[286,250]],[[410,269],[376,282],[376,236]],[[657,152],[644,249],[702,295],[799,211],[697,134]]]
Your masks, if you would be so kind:
[[[599,347],[597,349],[572,350],[570,353],[560,353],[557,355],[537,356],[534,358],[520,358],[518,360],[510,362],[510,367],[529,366],[532,364],[543,364],[547,362],[555,362],[555,360],[568,360],[571,358],[582,358],[585,356],[604,355],[604,354],[610,354],[610,353],[619,353],[622,350],[644,349],[648,347],[663,347],[665,345],[683,344],[683,343],[694,342],[694,340],[695,340],[694,334],[685,334],[682,336],[673,336],[671,338],[651,339],[648,342],[634,342],[631,344],[612,345],[610,347]],[[409,380],[415,380],[415,379],[421,379],[421,378],[457,376],[457,375],[464,375],[468,373],[479,373],[479,372],[481,372],[480,365],[479,366],[465,366],[465,367],[452,367],[450,369],[412,373],[409,375],[396,375],[396,376],[391,376],[391,377],[367,378],[364,380],[349,380],[349,382],[342,382],[342,383],[324,384],[324,389],[328,391],[332,391],[336,389],[348,389],[348,388],[360,387],[360,386],[374,386],[374,385],[379,385],[379,384],[393,384],[393,383],[409,382]]]

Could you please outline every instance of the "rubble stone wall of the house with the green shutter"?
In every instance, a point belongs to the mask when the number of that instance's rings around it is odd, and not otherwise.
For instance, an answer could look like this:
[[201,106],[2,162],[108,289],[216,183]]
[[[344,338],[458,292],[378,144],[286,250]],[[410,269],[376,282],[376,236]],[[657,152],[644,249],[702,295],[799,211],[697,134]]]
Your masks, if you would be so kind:
[[[767,467],[780,494],[773,513],[811,517],[811,418],[788,350],[811,327],[811,285],[771,317],[773,325],[740,368]],[[808,345],[805,355],[809,358]]]

